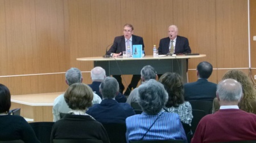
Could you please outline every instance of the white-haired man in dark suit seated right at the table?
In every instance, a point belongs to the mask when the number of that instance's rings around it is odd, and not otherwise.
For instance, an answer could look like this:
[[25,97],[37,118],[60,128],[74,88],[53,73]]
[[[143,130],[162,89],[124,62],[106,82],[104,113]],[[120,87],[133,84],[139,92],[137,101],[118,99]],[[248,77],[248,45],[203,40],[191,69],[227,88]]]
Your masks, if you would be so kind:
[[168,28],[168,37],[162,38],[159,42],[158,54],[185,54],[191,53],[188,38],[177,36],[178,29],[176,25],[170,25]]

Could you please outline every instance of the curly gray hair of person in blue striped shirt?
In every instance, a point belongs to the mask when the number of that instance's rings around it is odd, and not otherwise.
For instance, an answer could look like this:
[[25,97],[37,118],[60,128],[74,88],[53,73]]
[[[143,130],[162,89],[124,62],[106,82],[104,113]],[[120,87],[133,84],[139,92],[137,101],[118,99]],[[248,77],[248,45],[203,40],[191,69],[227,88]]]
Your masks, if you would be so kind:
[[168,93],[164,86],[156,80],[148,80],[138,87],[138,103],[143,112],[149,115],[158,114],[166,105]]

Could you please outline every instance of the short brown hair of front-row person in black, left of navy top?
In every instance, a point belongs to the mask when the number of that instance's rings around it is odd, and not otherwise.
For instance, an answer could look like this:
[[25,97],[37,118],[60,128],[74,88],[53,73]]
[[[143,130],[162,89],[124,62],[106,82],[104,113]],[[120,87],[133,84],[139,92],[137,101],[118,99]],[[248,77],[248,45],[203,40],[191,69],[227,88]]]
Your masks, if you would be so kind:
[[86,107],[92,106],[93,91],[86,84],[75,83],[66,90],[64,99],[70,109],[85,110]]

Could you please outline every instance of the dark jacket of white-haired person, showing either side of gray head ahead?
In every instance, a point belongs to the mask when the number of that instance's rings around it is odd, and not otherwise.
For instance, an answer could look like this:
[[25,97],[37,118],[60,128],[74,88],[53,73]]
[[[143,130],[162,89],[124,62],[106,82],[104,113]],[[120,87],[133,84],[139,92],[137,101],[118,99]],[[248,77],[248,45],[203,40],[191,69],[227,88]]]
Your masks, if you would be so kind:
[[[90,86],[90,88],[92,88],[93,92],[98,94],[98,96],[100,96],[102,99],[102,95],[100,93],[100,84],[101,84],[101,82],[99,82],[99,81],[93,81],[93,83],[88,84],[88,86]],[[117,94],[117,96],[115,96],[115,100],[119,103],[125,103],[127,98],[122,93],[119,92]]]

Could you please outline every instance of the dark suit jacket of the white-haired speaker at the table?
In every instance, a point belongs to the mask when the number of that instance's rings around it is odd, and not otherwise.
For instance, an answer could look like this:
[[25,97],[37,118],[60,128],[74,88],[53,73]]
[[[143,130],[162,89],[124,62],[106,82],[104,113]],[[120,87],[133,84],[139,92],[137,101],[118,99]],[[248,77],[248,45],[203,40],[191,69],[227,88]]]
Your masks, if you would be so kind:
[[[170,38],[162,38],[159,42],[158,47],[158,54],[164,55],[169,53],[169,46],[170,46]],[[191,53],[191,49],[189,47],[188,38],[177,36],[176,38],[176,45],[175,45],[175,54],[185,54],[185,53]]]

